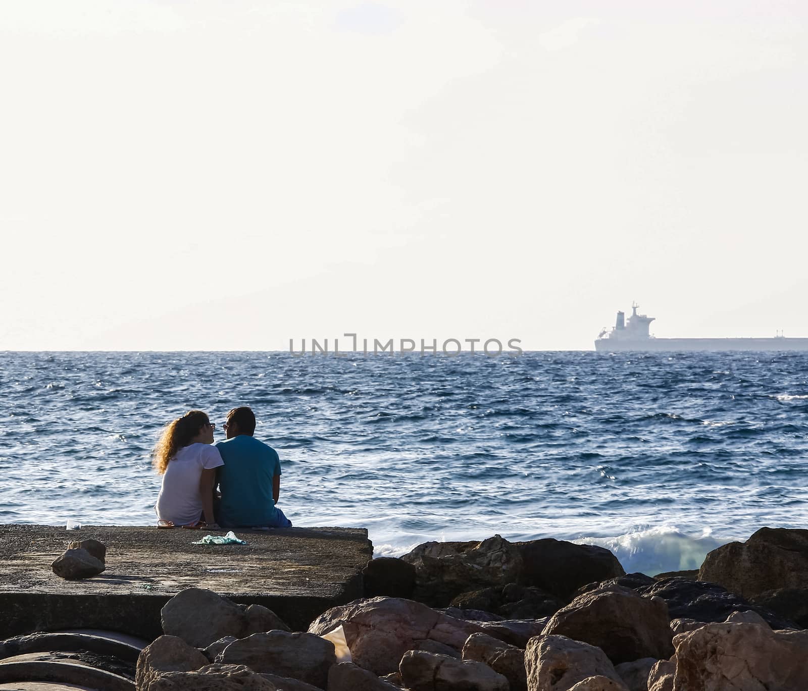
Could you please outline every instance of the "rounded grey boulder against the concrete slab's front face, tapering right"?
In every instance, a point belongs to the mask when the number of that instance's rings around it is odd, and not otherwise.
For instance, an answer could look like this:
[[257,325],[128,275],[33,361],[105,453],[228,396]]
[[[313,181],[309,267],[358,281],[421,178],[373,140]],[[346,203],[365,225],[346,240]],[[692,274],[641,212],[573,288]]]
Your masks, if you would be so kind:
[[179,636],[193,647],[234,636],[243,638],[267,630],[287,630],[288,626],[262,605],[236,605],[226,597],[204,588],[186,588],[160,610],[163,633]]

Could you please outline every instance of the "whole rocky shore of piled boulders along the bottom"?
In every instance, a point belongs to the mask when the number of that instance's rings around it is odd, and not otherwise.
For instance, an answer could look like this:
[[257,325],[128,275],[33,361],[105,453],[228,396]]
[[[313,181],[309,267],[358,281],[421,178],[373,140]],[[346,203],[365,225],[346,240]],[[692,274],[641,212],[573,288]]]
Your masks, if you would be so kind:
[[[54,571],[73,573],[65,559]],[[126,622],[18,636],[0,643],[0,689],[808,689],[808,530],[763,528],[697,573],[655,578],[553,539],[427,542],[373,559],[362,581],[364,597],[307,630],[186,588],[151,642],[127,639]]]

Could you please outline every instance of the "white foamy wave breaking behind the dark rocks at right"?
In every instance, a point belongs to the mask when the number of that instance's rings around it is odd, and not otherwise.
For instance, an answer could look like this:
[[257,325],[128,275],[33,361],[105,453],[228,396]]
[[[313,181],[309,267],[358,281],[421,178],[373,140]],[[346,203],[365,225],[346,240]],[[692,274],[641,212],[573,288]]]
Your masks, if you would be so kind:
[[606,547],[617,556],[626,573],[654,576],[698,568],[709,551],[728,541],[713,538],[709,528],[699,535],[688,535],[676,526],[656,526],[614,538],[579,538],[573,542]]

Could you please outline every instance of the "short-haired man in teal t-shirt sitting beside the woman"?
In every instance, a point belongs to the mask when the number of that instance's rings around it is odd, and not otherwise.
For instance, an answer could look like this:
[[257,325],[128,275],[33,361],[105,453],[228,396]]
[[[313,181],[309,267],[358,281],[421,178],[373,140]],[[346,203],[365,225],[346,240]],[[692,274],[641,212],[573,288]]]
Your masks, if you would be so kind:
[[276,507],[280,495],[280,459],[276,450],[253,437],[250,408],[227,413],[224,442],[216,447],[225,462],[218,470],[221,502],[217,517],[223,528],[289,528],[292,521]]

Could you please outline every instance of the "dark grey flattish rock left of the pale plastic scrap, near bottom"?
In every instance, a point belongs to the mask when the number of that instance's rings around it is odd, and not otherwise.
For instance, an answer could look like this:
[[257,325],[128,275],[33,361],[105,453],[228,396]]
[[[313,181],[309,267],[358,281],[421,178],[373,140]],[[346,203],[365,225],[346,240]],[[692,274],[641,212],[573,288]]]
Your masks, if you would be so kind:
[[314,634],[267,631],[230,643],[217,657],[222,664],[246,664],[255,672],[289,676],[321,689],[336,664],[334,643]]

